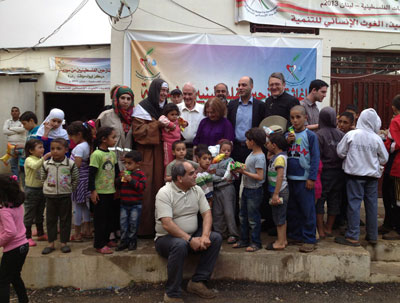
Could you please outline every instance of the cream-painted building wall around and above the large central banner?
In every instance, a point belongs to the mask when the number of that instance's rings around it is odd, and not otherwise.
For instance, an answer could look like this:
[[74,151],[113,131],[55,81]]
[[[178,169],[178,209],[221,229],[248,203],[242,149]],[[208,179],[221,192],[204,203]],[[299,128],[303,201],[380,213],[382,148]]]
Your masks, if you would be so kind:
[[[158,5],[155,6],[152,1],[141,1],[139,9],[133,15],[133,22],[129,29],[165,32],[252,35],[250,33],[249,23],[241,22],[236,24],[234,22],[235,1],[233,0],[158,0],[157,4]],[[186,9],[180,7],[178,4],[184,6]],[[198,15],[201,15],[204,18],[199,17]],[[205,18],[214,22],[208,21]],[[398,43],[398,33],[321,29],[319,36],[271,33],[256,33],[254,35],[322,38],[322,79],[328,83],[330,82],[332,50],[391,50],[397,51],[400,54],[400,45],[394,45],[395,43]],[[112,83],[122,83],[123,81],[123,43],[123,32],[117,32],[113,30],[111,33],[111,66],[113,71],[111,75]],[[390,46],[391,44],[393,45]],[[237,75],[238,79],[240,76],[242,75]],[[257,81],[257,79],[255,79],[255,81]],[[323,106],[327,105],[330,105],[329,92],[328,97],[325,98],[323,102]]]

